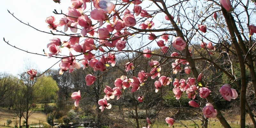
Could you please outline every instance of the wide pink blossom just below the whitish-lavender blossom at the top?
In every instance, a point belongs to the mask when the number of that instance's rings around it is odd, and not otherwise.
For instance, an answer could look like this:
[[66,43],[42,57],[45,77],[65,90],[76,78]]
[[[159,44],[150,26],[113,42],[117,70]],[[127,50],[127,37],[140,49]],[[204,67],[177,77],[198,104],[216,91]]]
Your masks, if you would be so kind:
[[107,12],[103,9],[94,9],[90,12],[90,16],[93,20],[98,20],[100,22],[100,26],[103,25],[103,21],[108,19]]

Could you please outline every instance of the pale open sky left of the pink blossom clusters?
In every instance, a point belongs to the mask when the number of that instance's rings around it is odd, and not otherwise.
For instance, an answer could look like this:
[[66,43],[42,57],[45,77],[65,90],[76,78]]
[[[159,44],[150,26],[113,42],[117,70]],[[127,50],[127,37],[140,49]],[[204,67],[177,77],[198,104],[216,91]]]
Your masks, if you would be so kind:
[[[33,55],[15,49],[6,44],[3,41],[3,37],[6,41],[9,41],[10,44],[15,45],[20,49],[44,54],[43,49],[47,49],[46,45],[49,43],[49,40],[56,36],[36,31],[35,29],[22,24],[12,17],[12,15],[7,12],[7,9],[21,21],[29,23],[29,25],[40,30],[50,32],[50,29],[47,28],[47,24],[45,23],[45,19],[52,15],[56,17],[56,21],[59,21],[63,16],[56,16],[52,11],[56,9],[57,11],[62,10],[63,12],[67,12],[68,6],[71,5],[70,1],[62,1],[63,3],[61,4],[54,3],[52,0],[0,1],[0,4],[2,5],[0,8],[0,16],[2,17],[2,20],[0,20],[0,51],[2,58],[0,72],[7,72],[13,75],[24,72],[24,69],[22,68],[24,59],[27,60],[28,58],[32,63],[36,64],[36,69],[40,71],[50,68],[59,60],[55,58],[49,59],[48,57]],[[58,64],[54,66],[54,68],[58,67]]]

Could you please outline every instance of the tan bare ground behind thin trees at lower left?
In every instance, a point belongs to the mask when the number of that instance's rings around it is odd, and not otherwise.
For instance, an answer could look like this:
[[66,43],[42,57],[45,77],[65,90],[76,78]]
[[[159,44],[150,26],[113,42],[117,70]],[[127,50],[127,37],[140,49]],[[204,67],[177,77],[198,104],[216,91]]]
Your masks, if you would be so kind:
[[[0,109],[0,126],[3,126],[4,123],[6,125],[6,120],[7,119],[12,119],[12,124],[10,125],[11,127],[14,127],[14,121],[15,119],[15,112],[13,110],[6,110],[6,109]],[[19,117],[17,117],[17,120],[19,120]],[[21,118],[21,124],[25,120],[24,118]],[[28,124],[37,124],[39,123],[46,122],[46,114],[42,112],[35,112],[33,113],[29,118],[28,118]]]

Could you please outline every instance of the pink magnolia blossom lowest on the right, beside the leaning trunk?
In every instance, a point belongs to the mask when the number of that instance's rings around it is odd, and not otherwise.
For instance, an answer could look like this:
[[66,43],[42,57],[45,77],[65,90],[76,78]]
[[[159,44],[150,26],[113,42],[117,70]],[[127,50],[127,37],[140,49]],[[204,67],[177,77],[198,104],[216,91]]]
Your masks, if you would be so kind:
[[203,108],[204,118],[215,118],[217,116],[217,110],[214,109],[211,103],[206,103],[205,107]]

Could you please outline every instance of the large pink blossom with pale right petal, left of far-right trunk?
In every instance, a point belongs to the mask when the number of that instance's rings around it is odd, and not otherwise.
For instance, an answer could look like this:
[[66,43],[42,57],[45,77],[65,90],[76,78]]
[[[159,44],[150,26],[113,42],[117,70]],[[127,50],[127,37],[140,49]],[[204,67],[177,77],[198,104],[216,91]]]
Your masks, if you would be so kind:
[[224,84],[220,88],[220,94],[227,101],[230,101],[231,99],[236,99],[238,96],[236,90],[231,88],[231,86],[229,84]]

